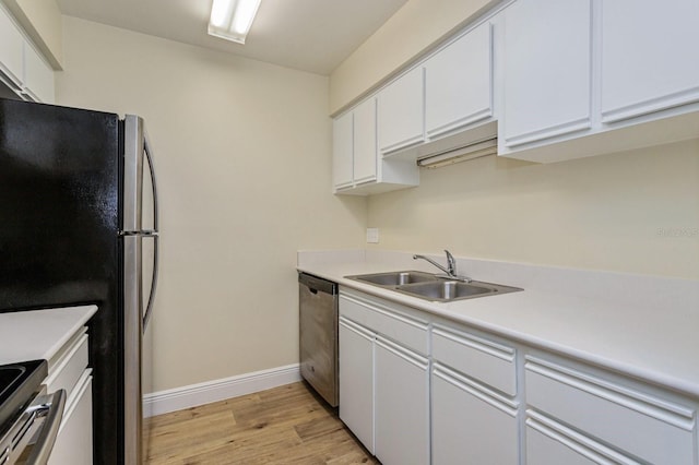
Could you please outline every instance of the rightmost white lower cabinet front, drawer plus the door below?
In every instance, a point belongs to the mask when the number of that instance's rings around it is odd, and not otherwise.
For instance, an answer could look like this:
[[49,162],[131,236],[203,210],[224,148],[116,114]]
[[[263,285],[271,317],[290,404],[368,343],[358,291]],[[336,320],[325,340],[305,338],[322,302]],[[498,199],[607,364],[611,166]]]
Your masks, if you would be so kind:
[[524,383],[529,463],[553,464],[536,457],[549,449],[562,454],[561,446],[567,454],[607,461],[593,463],[699,461],[696,401],[570,360],[534,356],[526,357]]

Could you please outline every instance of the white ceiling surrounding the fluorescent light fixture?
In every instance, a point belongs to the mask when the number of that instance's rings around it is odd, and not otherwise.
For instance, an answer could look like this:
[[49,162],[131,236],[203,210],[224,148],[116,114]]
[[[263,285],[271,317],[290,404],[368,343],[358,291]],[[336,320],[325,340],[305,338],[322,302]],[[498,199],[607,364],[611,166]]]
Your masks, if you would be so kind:
[[330,74],[407,0],[262,0],[246,45],[206,34],[212,0],[57,0],[63,14]]

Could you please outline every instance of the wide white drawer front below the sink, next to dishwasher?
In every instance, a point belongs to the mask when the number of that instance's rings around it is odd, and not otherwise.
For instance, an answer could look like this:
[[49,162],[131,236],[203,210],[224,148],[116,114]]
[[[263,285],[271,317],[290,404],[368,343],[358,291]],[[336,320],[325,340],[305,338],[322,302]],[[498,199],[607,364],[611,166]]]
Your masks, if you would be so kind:
[[427,321],[354,296],[340,296],[340,314],[420,354],[428,354]]

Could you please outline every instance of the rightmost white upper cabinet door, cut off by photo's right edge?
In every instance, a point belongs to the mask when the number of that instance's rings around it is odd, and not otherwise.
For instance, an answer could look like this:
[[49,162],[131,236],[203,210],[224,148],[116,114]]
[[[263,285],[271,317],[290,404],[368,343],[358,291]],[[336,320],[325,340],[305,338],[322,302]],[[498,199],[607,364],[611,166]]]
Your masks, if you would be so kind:
[[697,0],[602,2],[603,122],[699,100],[698,22]]

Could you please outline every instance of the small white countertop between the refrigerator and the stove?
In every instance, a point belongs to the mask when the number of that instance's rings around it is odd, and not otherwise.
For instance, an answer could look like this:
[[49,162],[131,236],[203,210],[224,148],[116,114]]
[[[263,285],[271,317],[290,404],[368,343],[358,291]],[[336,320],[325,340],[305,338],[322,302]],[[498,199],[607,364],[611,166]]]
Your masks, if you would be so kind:
[[0,313],[0,365],[49,360],[96,311],[79,306]]

